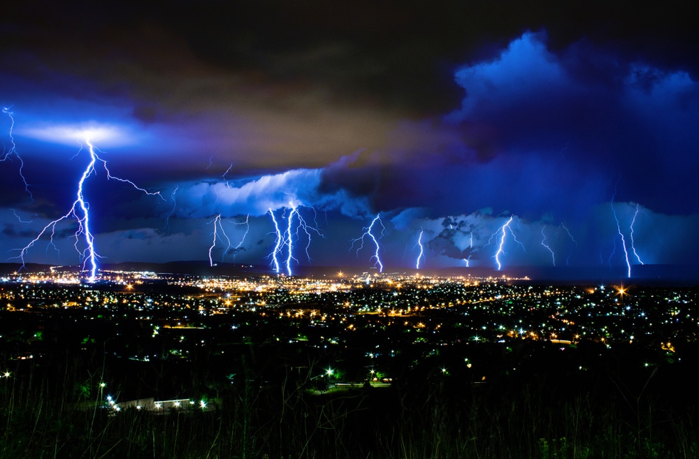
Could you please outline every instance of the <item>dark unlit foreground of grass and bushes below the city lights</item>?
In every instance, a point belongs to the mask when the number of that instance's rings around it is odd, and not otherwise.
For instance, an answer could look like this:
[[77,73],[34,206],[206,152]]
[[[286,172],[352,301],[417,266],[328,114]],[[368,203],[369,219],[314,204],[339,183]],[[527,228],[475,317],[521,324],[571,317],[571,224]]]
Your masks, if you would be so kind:
[[[475,346],[474,360],[500,369],[485,381],[446,370],[442,354],[405,365],[388,388],[341,391],[322,356],[271,344],[231,349],[225,369],[54,349],[0,379],[0,458],[699,457],[689,344],[649,366],[631,345]],[[107,392],[173,388],[207,408],[105,407]]]

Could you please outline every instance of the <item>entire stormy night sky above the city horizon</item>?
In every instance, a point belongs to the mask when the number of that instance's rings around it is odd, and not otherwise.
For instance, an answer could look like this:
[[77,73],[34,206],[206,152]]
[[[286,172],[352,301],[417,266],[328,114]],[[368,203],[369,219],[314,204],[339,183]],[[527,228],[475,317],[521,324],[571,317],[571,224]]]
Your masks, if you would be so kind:
[[[89,141],[150,192],[96,163],[101,263],[371,268],[379,215],[387,269],[696,265],[691,5],[565,3],[3,7],[0,250],[69,212]],[[24,261],[80,263],[76,214]]]

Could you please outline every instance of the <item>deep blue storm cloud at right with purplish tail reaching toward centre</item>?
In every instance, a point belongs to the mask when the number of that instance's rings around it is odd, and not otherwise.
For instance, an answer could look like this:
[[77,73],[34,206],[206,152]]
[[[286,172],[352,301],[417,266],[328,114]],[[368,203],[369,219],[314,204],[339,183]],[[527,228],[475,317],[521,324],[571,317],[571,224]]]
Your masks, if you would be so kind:
[[[545,34],[526,33],[495,58],[463,66],[461,108],[443,123],[398,126],[394,135],[410,147],[367,154],[333,182],[370,191],[378,210],[491,206],[580,219],[617,187],[617,199],[696,212],[682,196],[699,191],[691,180],[699,85],[684,71],[579,51],[589,46],[554,54]],[[593,55],[610,69],[583,72]]]

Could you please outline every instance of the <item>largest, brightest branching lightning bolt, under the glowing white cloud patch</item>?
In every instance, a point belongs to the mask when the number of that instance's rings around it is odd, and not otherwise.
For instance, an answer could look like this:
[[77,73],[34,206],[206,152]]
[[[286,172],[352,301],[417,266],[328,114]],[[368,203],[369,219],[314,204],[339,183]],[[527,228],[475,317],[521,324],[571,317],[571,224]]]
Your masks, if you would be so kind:
[[[96,253],[95,248],[94,248],[94,235],[92,234],[92,230],[90,229],[90,216],[89,216],[89,203],[85,200],[85,195],[83,194],[83,186],[85,185],[85,180],[87,180],[91,175],[96,174],[95,170],[95,164],[96,163],[101,163],[104,170],[106,171],[107,178],[111,180],[117,180],[118,182],[122,183],[127,183],[130,184],[131,187],[134,187],[138,191],[141,191],[148,196],[159,196],[162,200],[165,200],[163,196],[160,194],[159,191],[151,193],[150,191],[146,191],[143,188],[140,188],[134,184],[134,182],[131,182],[131,180],[125,180],[120,177],[115,177],[114,175],[111,175],[109,169],[107,168],[107,161],[101,159],[99,155],[97,154],[97,151],[99,151],[94,145],[92,145],[92,142],[89,138],[85,139],[85,143],[88,146],[88,151],[89,151],[89,162],[87,163],[87,166],[85,167],[85,170],[82,172],[82,175],[80,176],[80,180],[78,180],[78,189],[75,193],[75,201],[73,201],[73,205],[71,205],[70,209],[66,214],[64,214],[62,217],[59,217],[53,221],[50,221],[49,224],[44,226],[42,230],[38,233],[36,238],[31,240],[29,244],[27,244],[23,249],[20,250],[20,254],[18,256],[15,256],[13,258],[20,258],[22,260],[22,268],[24,268],[24,256],[27,255],[27,252],[31,247],[36,244],[36,242],[46,233],[49,232],[50,230],[50,239],[49,239],[49,245],[54,247],[56,249],[56,246],[54,245],[53,242],[53,237],[55,235],[56,231],[56,225],[59,224],[59,222],[66,220],[66,219],[71,219],[74,218],[77,223],[78,223],[78,229],[75,230],[75,235],[73,236],[75,238],[75,243],[73,244],[73,247],[75,247],[75,250],[80,254],[80,259],[81,259],[81,264],[82,264],[82,271],[89,272],[88,275],[88,280],[89,282],[94,282],[94,279],[97,275],[97,258],[99,258],[99,255]],[[83,148],[82,146],[80,147],[80,150],[78,153],[76,153],[76,156],[80,154],[80,151],[82,151]],[[80,248],[80,240],[82,239],[84,248]]]

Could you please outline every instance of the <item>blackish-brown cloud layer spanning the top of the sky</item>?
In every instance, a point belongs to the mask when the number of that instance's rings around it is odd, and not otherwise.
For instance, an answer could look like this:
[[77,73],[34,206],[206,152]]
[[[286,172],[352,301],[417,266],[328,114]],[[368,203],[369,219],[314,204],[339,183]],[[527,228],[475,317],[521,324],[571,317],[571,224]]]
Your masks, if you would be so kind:
[[[561,65],[570,78],[587,81],[584,89],[590,91],[613,90],[608,85],[619,76],[614,72],[623,73],[619,66],[634,60],[660,72],[672,68],[691,75],[696,68],[693,54],[677,52],[696,35],[682,10],[658,14],[642,7],[596,10],[549,2],[485,6],[456,1],[441,8],[415,2],[331,7],[313,1],[212,1],[196,8],[177,2],[80,6],[10,8],[3,17],[6,87],[31,82],[32,90],[47,96],[130,106],[131,122],[170,139],[147,146],[158,152],[154,159],[180,150],[178,161],[161,170],[173,177],[201,167],[201,156],[213,156],[224,168],[232,162],[246,175],[248,170],[322,167],[360,148],[407,147],[399,143],[401,137],[391,136],[401,120],[457,108],[463,92],[454,84],[454,71],[465,62],[496,59],[527,29],[547,30],[552,56],[567,59]],[[672,20],[666,24],[664,16]],[[654,46],[647,46],[651,41]],[[685,60],[676,62],[679,56]],[[561,118],[561,110],[553,110],[556,119],[570,124],[580,112],[589,122],[595,99],[579,91],[567,94],[565,81],[557,83],[553,95],[561,99],[559,105],[565,103],[568,114]],[[538,101],[529,86],[521,105]],[[17,99],[20,104],[24,97]],[[468,136],[468,146],[479,157],[488,157],[513,138],[526,146],[539,134],[526,127],[549,122],[549,143],[562,149],[571,141],[570,132],[557,133],[560,123],[550,123],[544,115],[551,112],[544,104],[553,101],[538,101],[540,115],[522,110],[528,124],[505,133],[494,129],[513,121],[512,112],[519,107],[512,103],[509,111],[500,112],[501,104],[495,103],[461,135]],[[55,112],[103,115],[94,107],[54,105]],[[604,117],[599,112],[594,116],[608,126],[611,137],[621,109],[607,109]],[[633,126],[633,120],[622,120],[619,127],[633,131]],[[440,143],[426,131],[422,135],[423,143]],[[642,147],[644,140],[624,145]]]

